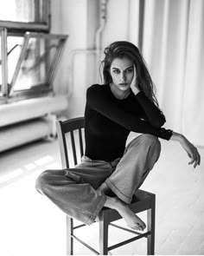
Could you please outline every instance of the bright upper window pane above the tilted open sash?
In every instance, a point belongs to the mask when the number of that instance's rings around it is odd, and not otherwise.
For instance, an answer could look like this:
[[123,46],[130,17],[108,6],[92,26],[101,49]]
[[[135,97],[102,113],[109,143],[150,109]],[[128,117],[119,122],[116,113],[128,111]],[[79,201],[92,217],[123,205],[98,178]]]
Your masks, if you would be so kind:
[[44,23],[43,4],[47,0],[0,1],[0,20],[21,23]]

